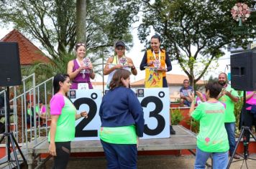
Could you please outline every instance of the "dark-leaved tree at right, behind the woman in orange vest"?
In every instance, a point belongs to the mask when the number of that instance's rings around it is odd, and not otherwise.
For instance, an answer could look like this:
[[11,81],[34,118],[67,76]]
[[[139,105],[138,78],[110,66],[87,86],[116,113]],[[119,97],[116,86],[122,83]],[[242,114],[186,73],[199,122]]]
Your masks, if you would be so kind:
[[[141,42],[152,29],[163,37],[163,47],[171,59],[188,75],[191,84],[204,76],[211,62],[223,56],[227,44],[246,45],[255,37],[255,15],[244,22],[251,34],[234,35],[230,10],[237,1],[155,0],[143,1],[143,19],[139,27]],[[252,1],[247,1],[252,6]],[[197,71],[197,73],[196,73]]]

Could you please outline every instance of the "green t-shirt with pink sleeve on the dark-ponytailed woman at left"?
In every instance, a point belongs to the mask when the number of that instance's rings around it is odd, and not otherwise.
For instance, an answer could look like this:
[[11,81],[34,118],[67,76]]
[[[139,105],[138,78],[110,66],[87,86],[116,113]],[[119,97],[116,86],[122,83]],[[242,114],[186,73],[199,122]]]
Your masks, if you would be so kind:
[[[50,100],[50,115],[60,115],[55,142],[68,142],[75,138],[76,107],[67,97],[56,94]],[[50,142],[50,131],[48,141]]]

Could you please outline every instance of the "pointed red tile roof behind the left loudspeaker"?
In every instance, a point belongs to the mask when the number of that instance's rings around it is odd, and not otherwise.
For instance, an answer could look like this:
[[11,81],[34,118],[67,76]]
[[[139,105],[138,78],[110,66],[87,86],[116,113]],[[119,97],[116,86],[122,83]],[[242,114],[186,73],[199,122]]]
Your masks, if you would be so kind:
[[35,62],[50,62],[50,59],[45,57],[45,54],[38,49],[32,42],[29,41],[23,34],[16,29],[13,29],[9,34],[6,34],[1,42],[18,42],[19,44],[19,59],[21,65],[34,64]]

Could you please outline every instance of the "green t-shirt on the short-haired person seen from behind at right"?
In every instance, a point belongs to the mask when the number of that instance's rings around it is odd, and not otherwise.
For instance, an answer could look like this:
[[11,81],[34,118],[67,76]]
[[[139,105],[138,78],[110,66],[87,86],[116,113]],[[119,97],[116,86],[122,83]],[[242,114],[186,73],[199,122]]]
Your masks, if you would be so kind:
[[202,102],[192,112],[192,117],[200,121],[197,146],[209,153],[229,150],[229,140],[224,126],[225,107],[221,102]]

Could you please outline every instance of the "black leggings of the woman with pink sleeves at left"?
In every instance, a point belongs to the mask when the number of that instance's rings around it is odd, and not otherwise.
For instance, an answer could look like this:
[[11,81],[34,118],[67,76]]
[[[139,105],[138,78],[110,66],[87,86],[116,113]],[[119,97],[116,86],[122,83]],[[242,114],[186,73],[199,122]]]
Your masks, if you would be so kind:
[[57,156],[54,156],[52,169],[65,169],[70,156],[70,141],[55,142],[55,147]]

